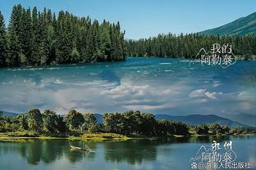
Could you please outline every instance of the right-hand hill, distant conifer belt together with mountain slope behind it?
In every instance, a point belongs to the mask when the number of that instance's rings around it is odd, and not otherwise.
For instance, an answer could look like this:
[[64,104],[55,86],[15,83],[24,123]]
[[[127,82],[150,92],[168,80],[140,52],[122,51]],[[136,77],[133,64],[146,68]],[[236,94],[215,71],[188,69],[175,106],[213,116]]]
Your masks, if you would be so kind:
[[253,59],[256,55],[256,12],[227,25],[197,34],[158,34],[157,37],[126,40],[128,56],[190,58],[200,48],[213,43],[230,43],[236,56]]

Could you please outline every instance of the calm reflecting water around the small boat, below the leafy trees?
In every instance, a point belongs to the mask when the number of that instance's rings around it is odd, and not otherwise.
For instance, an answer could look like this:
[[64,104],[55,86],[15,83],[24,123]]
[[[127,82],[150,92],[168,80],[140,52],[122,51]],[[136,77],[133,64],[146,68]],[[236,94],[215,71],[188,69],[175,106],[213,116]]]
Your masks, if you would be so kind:
[[236,161],[256,166],[256,136],[202,136],[191,138],[139,139],[128,141],[87,142],[95,153],[70,150],[69,144],[82,141],[21,140],[0,141],[0,169],[190,169],[190,159],[201,145],[213,140],[231,140]]

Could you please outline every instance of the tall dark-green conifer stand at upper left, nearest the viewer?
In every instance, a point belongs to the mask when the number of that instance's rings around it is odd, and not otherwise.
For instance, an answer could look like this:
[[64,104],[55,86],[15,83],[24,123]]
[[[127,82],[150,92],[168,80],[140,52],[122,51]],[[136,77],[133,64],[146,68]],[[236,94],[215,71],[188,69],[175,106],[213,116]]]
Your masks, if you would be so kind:
[[0,67],[124,60],[120,24],[44,8],[13,7],[6,29],[0,12]]

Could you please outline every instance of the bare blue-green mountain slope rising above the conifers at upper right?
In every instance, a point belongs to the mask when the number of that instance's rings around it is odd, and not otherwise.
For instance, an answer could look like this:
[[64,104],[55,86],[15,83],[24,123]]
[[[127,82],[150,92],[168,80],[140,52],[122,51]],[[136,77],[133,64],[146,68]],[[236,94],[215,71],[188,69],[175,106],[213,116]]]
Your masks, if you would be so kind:
[[256,36],[256,12],[249,16],[241,17],[231,23],[222,25],[214,29],[207,29],[199,32],[207,35],[234,35],[234,34],[253,34]]

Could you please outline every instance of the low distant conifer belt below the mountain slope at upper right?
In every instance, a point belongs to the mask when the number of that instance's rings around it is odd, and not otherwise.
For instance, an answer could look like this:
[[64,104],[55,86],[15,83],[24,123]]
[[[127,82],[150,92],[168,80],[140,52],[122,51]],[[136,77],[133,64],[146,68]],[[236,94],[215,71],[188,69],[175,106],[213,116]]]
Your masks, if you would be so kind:
[[159,34],[158,37],[126,41],[128,56],[160,56],[194,58],[201,48],[210,50],[213,43],[229,43],[236,56],[250,58],[256,55],[256,37],[215,36],[203,34]]

